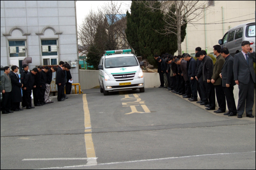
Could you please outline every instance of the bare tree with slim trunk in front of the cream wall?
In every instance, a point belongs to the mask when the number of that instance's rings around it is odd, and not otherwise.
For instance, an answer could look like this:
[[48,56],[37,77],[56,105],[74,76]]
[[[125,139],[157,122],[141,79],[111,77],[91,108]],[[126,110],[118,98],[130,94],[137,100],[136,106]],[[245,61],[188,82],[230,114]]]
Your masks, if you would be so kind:
[[[195,23],[203,17],[204,10],[207,10],[208,1],[160,1],[161,7],[156,9],[154,1],[141,1],[151,10],[161,10],[164,14],[165,26],[163,34],[177,35],[178,54],[181,55],[181,27],[186,23]],[[173,8],[172,8],[173,7]]]

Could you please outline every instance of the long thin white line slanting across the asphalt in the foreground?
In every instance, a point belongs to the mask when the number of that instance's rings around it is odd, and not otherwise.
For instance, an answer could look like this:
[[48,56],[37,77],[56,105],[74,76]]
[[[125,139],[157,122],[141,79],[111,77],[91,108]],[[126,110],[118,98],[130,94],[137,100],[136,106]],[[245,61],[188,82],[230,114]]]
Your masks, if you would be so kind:
[[[159,159],[144,159],[144,160],[124,161],[124,162],[98,163],[97,165],[111,165],[111,164],[120,164],[120,163],[134,163],[134,162],[146,162],[146,161],[156,161],[156,160],[166,160],[166,159],[190,158],[190,157],[199,157],[199,156],[243,154],[243,153],[254,153],[254,152],[255,151],[235,152],[235,153],[204,154],[204,155],[190,155],[190,156],[168,157],[168,158],[159,158]],[[40,169],[73,168],[73,167],[84,167],[84,166],[96,166],[96,165],[74,165],[74,166],[63,166],[63,167],[47,167],[47,168],[40,168]]]

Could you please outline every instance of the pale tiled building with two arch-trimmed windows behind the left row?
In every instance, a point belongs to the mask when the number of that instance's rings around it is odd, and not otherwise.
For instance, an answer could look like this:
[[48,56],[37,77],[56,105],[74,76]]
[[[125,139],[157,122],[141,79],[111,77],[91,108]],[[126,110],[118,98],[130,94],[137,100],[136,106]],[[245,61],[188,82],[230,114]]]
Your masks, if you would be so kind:
[[[1,66],[74,64],[79,82],[76,1],[1,1]],[[75,63],[71,63],[75,62]]]

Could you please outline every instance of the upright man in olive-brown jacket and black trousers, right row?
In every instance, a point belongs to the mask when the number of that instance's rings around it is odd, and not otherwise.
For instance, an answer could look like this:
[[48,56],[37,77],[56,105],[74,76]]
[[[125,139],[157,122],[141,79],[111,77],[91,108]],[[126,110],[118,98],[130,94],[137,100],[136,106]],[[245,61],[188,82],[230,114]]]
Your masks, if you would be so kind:
[[215,45],[214,46],[214,55],[217,56],[216,63],[214,65],[214,71],[211,77],[211,83],[214,84],[216,97],[219,105],[219,109],[215,111],[215,113],[224,113],[226,111],[226,98],[225,93],[221,84],[221,69],[225,63],[225,59],[222,57],[221,53],[221,46]]

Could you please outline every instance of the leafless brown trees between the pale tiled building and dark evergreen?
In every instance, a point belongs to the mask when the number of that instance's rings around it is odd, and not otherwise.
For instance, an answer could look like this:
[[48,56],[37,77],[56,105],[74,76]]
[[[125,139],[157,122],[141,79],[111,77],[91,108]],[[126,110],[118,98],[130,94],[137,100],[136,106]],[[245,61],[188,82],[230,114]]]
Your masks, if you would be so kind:
[[79,50],[88,53],[91,45],[98,46],[101,52],[127,48],[126,16],[122,14],[121,6],[110,1],[97,12],[90,11],[79,27],[78,39],[82,46]]

